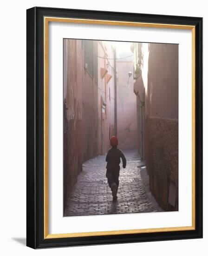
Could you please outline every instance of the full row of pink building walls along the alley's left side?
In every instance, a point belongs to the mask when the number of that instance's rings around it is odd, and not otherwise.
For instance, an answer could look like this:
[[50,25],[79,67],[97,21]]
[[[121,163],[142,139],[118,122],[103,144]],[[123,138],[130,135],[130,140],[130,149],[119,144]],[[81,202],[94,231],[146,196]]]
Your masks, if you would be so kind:
[[64,204],[83,162],[106,153],[116,134],[115,49],[97,40],[64,40]]

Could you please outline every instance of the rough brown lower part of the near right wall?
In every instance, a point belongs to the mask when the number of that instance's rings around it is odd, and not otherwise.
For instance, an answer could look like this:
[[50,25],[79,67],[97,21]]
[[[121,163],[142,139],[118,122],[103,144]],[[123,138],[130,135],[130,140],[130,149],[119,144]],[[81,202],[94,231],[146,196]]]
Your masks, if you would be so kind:
[[[145,155],[150,190],[160,207],[178,209],[178,120],[146,117]],[[168,203],[169,184],[176,186],[176,208]]]

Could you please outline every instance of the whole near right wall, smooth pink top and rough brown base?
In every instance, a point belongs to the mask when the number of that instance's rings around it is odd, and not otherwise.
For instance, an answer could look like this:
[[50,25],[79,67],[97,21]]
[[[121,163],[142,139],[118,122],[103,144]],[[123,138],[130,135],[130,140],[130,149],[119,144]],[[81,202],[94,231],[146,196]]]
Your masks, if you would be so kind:
[[[150,189],[163,209],[178,210],[178,45],[151,43],[146,75],[144,140]],[[174,207],[168,203],[170,182],[176,188]]]

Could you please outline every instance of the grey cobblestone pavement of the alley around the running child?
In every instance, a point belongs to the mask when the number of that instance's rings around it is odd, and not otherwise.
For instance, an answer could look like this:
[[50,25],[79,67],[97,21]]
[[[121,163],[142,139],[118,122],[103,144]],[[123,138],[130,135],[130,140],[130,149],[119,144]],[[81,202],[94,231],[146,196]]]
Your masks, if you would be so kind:
[[136,150],[123,151],[126,168],[120,164],[117,200],[112,200],[107,183],[105,155],[90,159],[83,164],[67,202],[65,216],[104,215],[163,211],[151,195],[149,177]]

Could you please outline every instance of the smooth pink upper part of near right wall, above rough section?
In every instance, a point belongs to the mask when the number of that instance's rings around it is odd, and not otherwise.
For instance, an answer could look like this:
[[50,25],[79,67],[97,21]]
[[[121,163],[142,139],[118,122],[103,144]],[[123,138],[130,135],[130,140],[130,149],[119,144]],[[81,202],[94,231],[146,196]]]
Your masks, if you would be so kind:
[[146,114],[178,119],[178,45],[150,44]]

